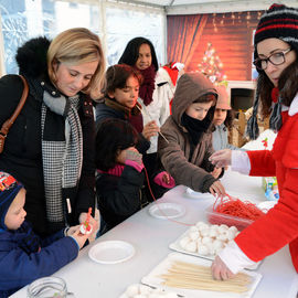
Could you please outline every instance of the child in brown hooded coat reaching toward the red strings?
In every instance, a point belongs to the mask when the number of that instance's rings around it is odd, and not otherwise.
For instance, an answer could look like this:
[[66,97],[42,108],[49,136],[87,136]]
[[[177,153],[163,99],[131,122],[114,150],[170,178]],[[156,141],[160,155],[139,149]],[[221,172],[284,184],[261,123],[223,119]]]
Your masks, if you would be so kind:
[[169,142],[159,137],[161,163],[177,184],[222,195],[222,169],[209,161],[213,152],[211,124],[217,93],[202,74],[183,74],[177,84],[172,115],[161,127]]

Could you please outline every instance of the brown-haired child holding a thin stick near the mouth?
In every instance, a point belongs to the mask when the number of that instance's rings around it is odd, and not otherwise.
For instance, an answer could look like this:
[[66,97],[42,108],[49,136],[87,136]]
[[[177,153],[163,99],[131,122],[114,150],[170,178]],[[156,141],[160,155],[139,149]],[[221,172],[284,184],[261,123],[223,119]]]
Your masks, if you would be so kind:
[[156,134],[152,121],[143,126],[141,106],[137,103],[141,74],[129,65],[113,65],[106,72],[104,98],[96,105],[96,124],[107,118],[130,123],[139,135],[138,150],[145,153],[150,147],[150,138]]

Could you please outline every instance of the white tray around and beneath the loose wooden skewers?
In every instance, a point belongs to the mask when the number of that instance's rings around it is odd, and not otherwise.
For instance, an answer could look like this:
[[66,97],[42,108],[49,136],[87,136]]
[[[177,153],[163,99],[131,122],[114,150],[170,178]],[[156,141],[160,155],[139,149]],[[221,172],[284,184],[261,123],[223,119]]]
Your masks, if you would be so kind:
[[237,294],[237,292],[221,292],[221,291],[212,291],[212,290],[194,290],[194,289],[182,289],[182,288],[173,288],[167,287],[162,285],[162,279],[159,277],[160,275],[168,272],[168,268],[171,266],[172,262],[181,260],[195,265],[211,266],[211,260],[204,258],[198,258],[193,256],[188,256],[178,253],[171,253],[163,259],[156,268],[153,268],[147,276],[141,279],[141,283],[145,285],[149,285],[151,287],[159,287],[164,290],[173,290],[179,295],[184,297],[192,298],[249,298],[253,296],[259,280],[262,279],[262,275],[255,272],[242,270],[243,273],[249,275],[252,277],[252,284],[249,289],[246,292]]

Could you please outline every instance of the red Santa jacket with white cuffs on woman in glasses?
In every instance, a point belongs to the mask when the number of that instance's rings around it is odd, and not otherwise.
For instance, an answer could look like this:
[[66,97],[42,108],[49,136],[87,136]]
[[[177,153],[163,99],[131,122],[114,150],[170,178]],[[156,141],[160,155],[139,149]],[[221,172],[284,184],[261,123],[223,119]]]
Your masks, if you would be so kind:
[[232,170],[249,175],[276,175],[280,199],[266,216],[254,222],[219,255],[236,273],[289,243],[298,272],[298,94],[283,106],[283,127],[273,150],[232,151]]

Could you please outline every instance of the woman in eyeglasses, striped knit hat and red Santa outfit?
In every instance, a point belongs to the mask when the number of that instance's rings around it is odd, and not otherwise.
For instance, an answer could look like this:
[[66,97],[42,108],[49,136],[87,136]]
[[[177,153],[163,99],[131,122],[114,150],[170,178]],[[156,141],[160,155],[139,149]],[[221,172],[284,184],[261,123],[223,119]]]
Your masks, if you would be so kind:
[[260,18],[254,44],[259,75],[247,132],[252,139],[258,136],[260,102],[262,114],[270,114],[270,128],[278,132],[273,150],[225,149],[211,160],[216,167],[231,164],[232,170],[249,175],[276,175],[280,199],[216,256],[215,279],[231,278],[287,244],[298,272],[298,10],[273,4]]

